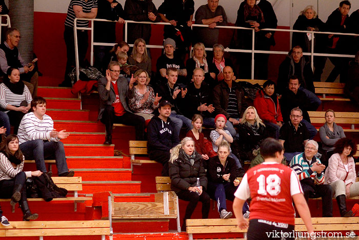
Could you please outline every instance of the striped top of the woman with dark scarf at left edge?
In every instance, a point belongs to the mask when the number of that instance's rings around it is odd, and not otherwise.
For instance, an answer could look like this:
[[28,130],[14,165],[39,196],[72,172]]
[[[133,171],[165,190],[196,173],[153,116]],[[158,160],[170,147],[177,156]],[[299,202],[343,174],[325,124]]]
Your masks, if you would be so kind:
[[[27,86],[24,86],[24,92],[22,95],[14,94],[4,83],[0,84],[0,107],[6,109],[8,105],[20,106],[22,101],[26,100],[31,103],[32,97]],[[9,111],[6,111],[7,113]]]

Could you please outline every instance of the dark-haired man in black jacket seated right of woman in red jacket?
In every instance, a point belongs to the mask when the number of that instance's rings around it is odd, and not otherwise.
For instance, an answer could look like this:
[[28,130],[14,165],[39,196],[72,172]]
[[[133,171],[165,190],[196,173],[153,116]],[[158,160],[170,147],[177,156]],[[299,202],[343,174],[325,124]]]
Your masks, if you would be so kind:
[[301,112],[303,112],[303,116],[301,114],[301,123],[303,123],[309,131],[309,139],[313,139],[317,134],[317,131],[316,128],[310,124],[308,110],[311,103],[304,91],[300,89],[300,86],[301,84],[297,76],[292,76],[289,80],[288,88],[284,90],[280,100],[282,116],[284,122],[288,122],[290,120],[292,109],[295,107],[300,108]]

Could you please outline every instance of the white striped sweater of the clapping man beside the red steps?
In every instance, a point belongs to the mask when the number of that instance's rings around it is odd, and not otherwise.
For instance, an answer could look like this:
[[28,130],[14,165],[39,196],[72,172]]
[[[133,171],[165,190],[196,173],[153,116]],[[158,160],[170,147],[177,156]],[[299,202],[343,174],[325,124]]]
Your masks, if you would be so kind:
[[19,144],[36,139],[58,142],[59,138],[50,137],[53,125],[54,122],[49,115],[45,114],[43,120],[40,120],[32,112],[25,114],[18,127]]

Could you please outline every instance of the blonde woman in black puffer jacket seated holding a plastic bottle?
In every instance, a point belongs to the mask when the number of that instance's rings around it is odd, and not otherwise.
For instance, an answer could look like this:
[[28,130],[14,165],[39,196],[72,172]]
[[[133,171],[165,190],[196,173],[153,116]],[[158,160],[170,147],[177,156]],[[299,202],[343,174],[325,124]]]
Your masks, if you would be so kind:
[[[173,147],[169,161],[171,190],[179,199],[189,201],[183,218],[182,231],[186,231],[186,219],[190,219],[198,201],[202,201],[202,218],[208,218],[210,197],[204,191],[207,177],[203,167],[202,156],[194,149],[192,138],[185,137],[180,144]],[[200,186],[196,186],[197,179]]]

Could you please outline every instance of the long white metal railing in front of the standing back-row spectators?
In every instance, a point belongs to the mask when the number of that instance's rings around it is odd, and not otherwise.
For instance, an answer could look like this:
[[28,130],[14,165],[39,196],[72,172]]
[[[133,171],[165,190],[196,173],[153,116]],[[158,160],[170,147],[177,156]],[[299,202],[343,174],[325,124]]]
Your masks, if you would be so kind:
[[[91,22],[91,27],[77,27],[76,21],[77,20],[87,20]],[[94,43],[93,42],[93,22],[116,22],[116,21],[109,21],[105,19],[75,19],[74,20],[74,39],[75,39],[75,58],[76,58],[76,75],[77,80],[79,76],[79,64],[78,64],[78,48],[77,48],[77,31],[76,30],[91,30],[91,65],[93,65],[93,46],[114,46],[115,43]],[[170,23],[153,23],[153,22],[135,22],[126,20],[125,21],[125,42],[127,42],[127,28],[128,23],[137,23],[137,24],[152,24],[152,25],[171,25]],[[193,27],[208,27],[208,25],[202,25],[202,24],[192,24]],[[227,52],[250,52],[252,53],[252,66],[251,66],[251,79],[254,79],[254,53],[273,53],[273,54],[288,54],[288,51],[266,51],[266,50],[255,50],[254,49],[254,28],[245,28],[245,27],[235,27],[235,26],[216,26],[215,28],[227,28],[227,29],[245,29],[245,30],[251,30],[252,31],[252,49],[230,49],[226,48],[225,51]],[[310,52],[303,52],[303,55],[311,56],[311,67],[313,69],[313,59],[314,56],[325,56],[325,57],[342,57],[342,58],[354,58],[354,55],[348,55],[348,54],[328,54],[328,53],[315,53],[314,52],[314,34],[335,34],[335,35],[349,35],[349,36],[359,36],[359,34],[355,33],[341,33],[341,32],[317,32],[317,31],[301,31],[301,30],[293,30],[293,29],[278,29],[278,28],[265,28],[261,29],[263,31],[280,31],[280,32],[303,32],[303,33],[311,33],[312,39],[311,39],[311,51]],[[133,44],[129,44],[131,47]],[[163,45],[146,45],[147,48],[163,48]],[[211,51],[212,48],[206,48],[206,50]]]

